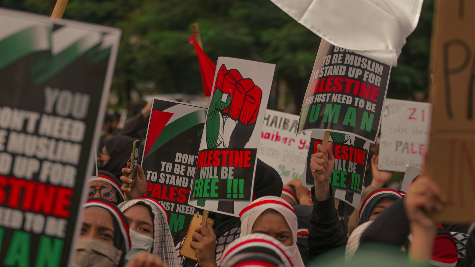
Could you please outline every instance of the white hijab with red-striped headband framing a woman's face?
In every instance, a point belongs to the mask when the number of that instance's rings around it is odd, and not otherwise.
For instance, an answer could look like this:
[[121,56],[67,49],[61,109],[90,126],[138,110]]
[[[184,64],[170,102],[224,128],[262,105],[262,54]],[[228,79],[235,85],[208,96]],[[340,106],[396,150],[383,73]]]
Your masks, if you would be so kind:
[[304,267],[302,257],[297,247],[297,215],[294,209],[285,200],[276,196],[264,196],[256,199],[244,208],[240,213],[241,236],[247,236],[252,232],[252,226],[267,209],[273,209],[284,216],[285,221],[292,230],[292,246],[285,247],[285,253],[291,258],[294,267]]

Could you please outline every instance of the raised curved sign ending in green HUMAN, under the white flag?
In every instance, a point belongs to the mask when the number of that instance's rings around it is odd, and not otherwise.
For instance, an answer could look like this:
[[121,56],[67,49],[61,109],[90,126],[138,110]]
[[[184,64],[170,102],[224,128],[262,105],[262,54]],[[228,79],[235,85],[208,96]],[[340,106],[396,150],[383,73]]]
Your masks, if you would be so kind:
[[298,132],[327,129],[375,142],[391,67],[321,42]]

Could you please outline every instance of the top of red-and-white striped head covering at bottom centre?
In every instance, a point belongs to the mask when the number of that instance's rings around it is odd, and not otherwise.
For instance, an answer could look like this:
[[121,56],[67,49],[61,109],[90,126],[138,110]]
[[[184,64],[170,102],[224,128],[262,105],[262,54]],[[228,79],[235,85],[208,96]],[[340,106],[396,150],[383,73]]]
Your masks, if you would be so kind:
[[265,234],[250,234],[229,244],[224,251],[223,267],[292,267],[285,246]]

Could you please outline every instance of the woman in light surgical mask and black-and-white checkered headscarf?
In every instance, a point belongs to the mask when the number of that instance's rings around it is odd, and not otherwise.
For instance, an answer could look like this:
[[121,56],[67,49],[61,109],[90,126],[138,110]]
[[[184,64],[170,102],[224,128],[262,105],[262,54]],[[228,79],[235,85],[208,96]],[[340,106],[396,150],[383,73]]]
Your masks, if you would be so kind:
[[161,258],[169,267],[179,267],[167,212],[157,200],[137,198],[121,203],[119,209],[130,225],[132,248],[126,260],[146,251]]

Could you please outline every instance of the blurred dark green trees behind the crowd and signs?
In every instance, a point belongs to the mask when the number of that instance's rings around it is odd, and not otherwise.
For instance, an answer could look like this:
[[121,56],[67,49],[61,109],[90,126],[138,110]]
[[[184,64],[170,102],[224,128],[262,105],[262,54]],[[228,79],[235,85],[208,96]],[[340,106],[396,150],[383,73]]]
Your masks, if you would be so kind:
[[[0,6],[50,15],[55,2],[0,0]],[[392,69],[387,97],[425,100],[432,13],[433,0],[424,1],[418,27]],[[122,29],[115,108],[128,108],[131,92],[203,94],[189,43],[190,24],[197,22],[211,60],[230,56],[276,64],[269,108],[299,113],[320,43],[269,0],[69,0],[64,18]]]

